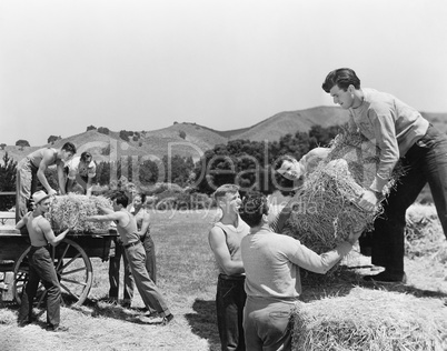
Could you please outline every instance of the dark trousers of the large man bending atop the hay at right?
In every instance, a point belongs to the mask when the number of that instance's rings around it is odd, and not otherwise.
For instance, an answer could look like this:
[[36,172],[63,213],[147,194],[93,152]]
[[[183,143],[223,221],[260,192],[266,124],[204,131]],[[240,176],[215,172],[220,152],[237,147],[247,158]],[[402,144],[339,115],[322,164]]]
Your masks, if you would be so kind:
[[405,213],[427,182],[447,237],[447,137],[430,126],[403,163],[406,174],[390,191],[385,212],[375,221],[371,248],[371,262],[396,275],[404,273]]

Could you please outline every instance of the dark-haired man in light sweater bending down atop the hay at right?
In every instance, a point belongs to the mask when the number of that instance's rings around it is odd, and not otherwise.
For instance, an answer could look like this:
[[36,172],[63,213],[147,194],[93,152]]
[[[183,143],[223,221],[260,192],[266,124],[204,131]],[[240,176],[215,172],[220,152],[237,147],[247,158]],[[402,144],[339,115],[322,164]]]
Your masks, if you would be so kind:
[[385,271],[365,280],[405,283],[405,213],[427,182],[447,235],[447,137],[394,96],[361,89],[360,79],[349,68],[329,72],[322,89],[334,103],[349,111],[350,131],[360,132],[380,150],[376,177],[359,199],[361,208],[369,211],[377,205],[401,160],[406,172],[384,201],[384,213],[376,219],[372,234],[371,262]]

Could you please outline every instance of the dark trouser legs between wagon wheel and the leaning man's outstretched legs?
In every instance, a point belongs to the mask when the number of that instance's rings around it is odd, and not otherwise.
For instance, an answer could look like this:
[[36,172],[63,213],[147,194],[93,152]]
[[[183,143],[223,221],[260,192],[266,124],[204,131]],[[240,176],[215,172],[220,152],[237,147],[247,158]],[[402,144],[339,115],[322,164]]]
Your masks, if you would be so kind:
[[118,300],[119,292],[119,269],[122,258],[122,264],[125,269],[125,285],[123,285],[123,301],[130,302],[133,298],[135,283],[132,273],[127,260],[125,248],[121,242],[115,241],[115,257],[109,259],[109,298]]

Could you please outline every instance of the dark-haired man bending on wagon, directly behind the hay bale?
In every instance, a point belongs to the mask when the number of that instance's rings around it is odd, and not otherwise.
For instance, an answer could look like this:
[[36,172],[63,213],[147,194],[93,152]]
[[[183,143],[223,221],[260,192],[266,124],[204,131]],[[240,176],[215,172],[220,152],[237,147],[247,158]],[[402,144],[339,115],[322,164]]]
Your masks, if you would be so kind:
[[66,167],[66,173],[67,183],[64,190],[67,193],[72,191],[73,184],[77,182],[82,187],[86,195],[91,195],[93,178],[97,174],[97,164],[90,152],[85,151],[81,156],[72,158]]

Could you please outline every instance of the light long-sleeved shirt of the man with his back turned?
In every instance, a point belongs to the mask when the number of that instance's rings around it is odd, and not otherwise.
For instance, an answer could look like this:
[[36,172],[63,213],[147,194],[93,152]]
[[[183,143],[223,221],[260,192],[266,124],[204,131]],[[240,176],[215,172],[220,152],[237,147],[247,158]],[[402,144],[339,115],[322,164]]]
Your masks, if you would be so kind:
[[318,254],[288,235],[261,229],[241,241],[247,297],[294,303],[301,293],[299,267],[326,273],[350,250],[348,242]]

